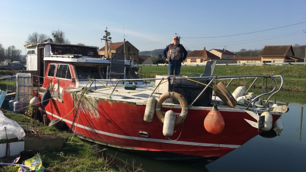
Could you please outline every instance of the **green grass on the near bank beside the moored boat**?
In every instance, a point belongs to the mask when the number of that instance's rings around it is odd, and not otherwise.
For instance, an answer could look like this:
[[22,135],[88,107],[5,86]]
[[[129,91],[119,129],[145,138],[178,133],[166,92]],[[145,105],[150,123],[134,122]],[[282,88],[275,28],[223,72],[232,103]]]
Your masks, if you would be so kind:
[[[3,110],[2,110],[3,111]],[[6,113],[5,111],[3,111]],[[33,119],[22,114],[7,113],[5,116],[9,119],[16,121],[19,124],[32,124]],[[32,121],[32,122],[31,122]],[[46,127],[43,124],[37,124],[40,128]],[[42,133],[66,133],[61,132],[55,128],[42,129]],[[65,138],[64,138],[65,140]],[[71,137],[68,138],[68,142]],[[90,142],[81,140],[78,137],[73,137],[72,143],[65,144],[64,150],[47,150],[41,153],[43,158],[43,166],[48,171],[57,172],[82,172],[82,171],[130,171],[129,169],[122,169],[116,165],[111,159],[104,159],[97,154],[98,145],[91,144]],[[61,153],[63,152],[63,153]],[[12,160],[13,162],[13,160]],[[6,162],[6,163],[12,163]],[[0,160],[1,163],[1,160]],[[16,166],[3,166],[0,168],[1,172],[16,172]]]

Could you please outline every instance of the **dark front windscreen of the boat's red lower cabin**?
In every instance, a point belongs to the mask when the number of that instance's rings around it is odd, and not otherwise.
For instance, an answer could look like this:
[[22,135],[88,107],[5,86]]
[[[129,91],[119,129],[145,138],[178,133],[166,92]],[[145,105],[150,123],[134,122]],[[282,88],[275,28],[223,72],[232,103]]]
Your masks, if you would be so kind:
[[100,74],[100,68],[96,66],[75,66],[76,74],[79,80],[103,79]]

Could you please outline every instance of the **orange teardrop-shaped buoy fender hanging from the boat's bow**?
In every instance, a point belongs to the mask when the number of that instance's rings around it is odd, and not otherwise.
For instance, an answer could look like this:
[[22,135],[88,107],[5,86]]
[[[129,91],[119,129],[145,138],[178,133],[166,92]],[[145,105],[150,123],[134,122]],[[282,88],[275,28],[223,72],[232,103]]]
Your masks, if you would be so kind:
[[219,134],[223,131],[224,126],[224,119],[217,106],[214,105],[204,119],[204,127],[211,134]]

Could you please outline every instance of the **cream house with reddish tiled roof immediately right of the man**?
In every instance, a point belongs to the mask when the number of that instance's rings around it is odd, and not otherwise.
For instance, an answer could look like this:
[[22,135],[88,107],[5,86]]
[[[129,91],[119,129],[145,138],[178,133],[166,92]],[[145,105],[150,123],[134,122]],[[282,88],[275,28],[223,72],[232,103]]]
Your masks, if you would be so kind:
[[186,64],[206,63],[211,59],[219,59],[215,54],[210,53],[205,48],[204,50],[194,50],[187,54],[185,59]]

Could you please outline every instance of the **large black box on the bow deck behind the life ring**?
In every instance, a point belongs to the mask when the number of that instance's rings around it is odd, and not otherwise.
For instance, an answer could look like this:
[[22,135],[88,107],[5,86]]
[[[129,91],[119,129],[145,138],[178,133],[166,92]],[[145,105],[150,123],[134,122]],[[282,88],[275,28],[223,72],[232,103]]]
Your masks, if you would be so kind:
[[[193,79],[197,82],[208,84],[210,82],[209,79]],[[170,81],[169,91],[180,93],[185,97],[187,104],[191,105],[191,103],[200,95],[206,85],[196,83],[187,79],[177,79]],[[209,106],[211,104],[212,97],[212,88],[209,87],[203,92],[203,94],[199,97],[199,99],[193,104],[193,106]],[[174,104],[179,104],[177,100],[173,100]]]

